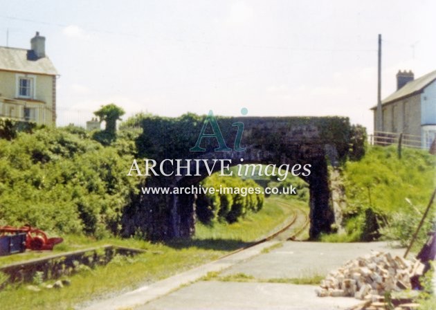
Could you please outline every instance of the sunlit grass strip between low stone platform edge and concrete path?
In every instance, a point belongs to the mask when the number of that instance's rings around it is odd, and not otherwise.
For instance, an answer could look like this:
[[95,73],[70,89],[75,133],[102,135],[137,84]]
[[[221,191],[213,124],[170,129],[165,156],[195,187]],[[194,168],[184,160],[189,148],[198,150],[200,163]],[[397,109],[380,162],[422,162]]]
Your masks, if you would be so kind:
[[[0,291],[1,309],[71,309],[90,296],[96,298],[120,289],[135,289],[140,284],[185,271],[222,254],[194,247],[176,250],[159,244],[146,246],[155,250],[155,253],[116,259],[107,266],[82,271],[69,277],[71,286],[64,289],[33,292],[28,291],[25,285],[8,286]],[[156,254],[157,251],[160,254]]]

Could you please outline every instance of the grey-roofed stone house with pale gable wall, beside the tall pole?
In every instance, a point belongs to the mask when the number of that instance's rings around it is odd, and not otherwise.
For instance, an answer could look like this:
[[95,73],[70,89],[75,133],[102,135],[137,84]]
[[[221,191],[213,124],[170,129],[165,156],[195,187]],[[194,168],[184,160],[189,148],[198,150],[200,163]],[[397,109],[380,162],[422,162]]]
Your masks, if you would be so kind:
[[[397,91],[382,100],[381,107],[383,133],[374,128],[374,134],[404,134],[409,140],[416,137],[416,146],[430,148],[436,138],[436,70],[416,80],[412,71],[399,71]],[[374,126],[376,109],[372,107]]]

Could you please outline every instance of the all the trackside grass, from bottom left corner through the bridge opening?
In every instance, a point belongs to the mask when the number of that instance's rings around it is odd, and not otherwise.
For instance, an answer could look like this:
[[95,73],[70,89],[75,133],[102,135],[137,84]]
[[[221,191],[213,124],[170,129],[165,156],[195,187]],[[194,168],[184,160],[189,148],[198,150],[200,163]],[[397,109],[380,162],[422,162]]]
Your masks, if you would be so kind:
[[[161,280],[262,238],[292,215],[292,203],[280,197],[271,197],[266,199],[262,210],[235,224],[216,224],[213,227],[197,225],[194,239],[173,244],[152,244],[139,239],[96,240],[79,235],[62,236],[64,243],[55,247],[55,253],[104,244],[140,248],[147,252],[129,259],[115,259],[108,266],[98,266],[73,275],[69,277],[71,286],[64,289],[34,292],[26,289],[25,285],[8,286],[0,291],[1,309],[72,309],[91,296],[98,298]],[[0,264],[49,254],[52,253],[1,257]]]

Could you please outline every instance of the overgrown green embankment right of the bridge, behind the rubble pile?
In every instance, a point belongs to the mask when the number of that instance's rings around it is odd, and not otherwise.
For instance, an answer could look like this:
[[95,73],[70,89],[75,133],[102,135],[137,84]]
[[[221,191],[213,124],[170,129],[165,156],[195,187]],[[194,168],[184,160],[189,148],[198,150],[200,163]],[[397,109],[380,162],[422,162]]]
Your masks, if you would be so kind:
[[[345,239],[408,244],[435,188],[435,163],[435,156],[419,149],[403,149],[400,159],[394,146],[369,147],[360,161],[345,163]],[[432,217],[430,212],[421,229],[421,243]]]

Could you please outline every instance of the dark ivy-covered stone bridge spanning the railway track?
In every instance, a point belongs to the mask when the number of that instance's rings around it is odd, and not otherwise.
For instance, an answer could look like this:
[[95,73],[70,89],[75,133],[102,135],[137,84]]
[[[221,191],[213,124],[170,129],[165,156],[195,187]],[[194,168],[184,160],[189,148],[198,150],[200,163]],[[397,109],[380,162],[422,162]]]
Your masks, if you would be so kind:
[[[231,159],[241,163],[311,165],[311,174],[300,177],[309,184],[311,238],[329,232],[335,222],[329,190],[327,166],[338,165],[350,157],[363,154],[364,135],[341,117],[216,117],[228,152],[215,152],[216,138],[203,138],[204,152],[190,152],[196,144],[206,116],[185,114],[179,118],[149,117],[142,120],[143,134],[136,140],[138,165],[140,158],[153,158],[160,163],[169,159]],[[235,122],[244,123],[240,147],[235,151],[237,138]],[[208,124],[208,127],[211,127]],[[209,128],[210,129],[210,128]],[[211,134],[212,130],[208,132]],[[194,162],[192,162],[194,165]],[[218,169],[217,169],[218,168]],[[221,165],[216,165],[219,170]],[[192,171],[194,171],[192,167]],[[183,170],[182,170],[183,171]],[[289,171],[290,173],[290,171]],[[183,173],[182,173],[183,174]],[[208,176],[149,176],[143,185],[148,187],[186,187]],[[132,176],[133,177],[133,176]],[[140,177],[140,176],[138,176]],[[143,177],[144,178],[144,177]],[[132,235],[140,231],[149,239],[172,239],[194,235],[194,194],[139,194],[123,215],[123,231]]]

